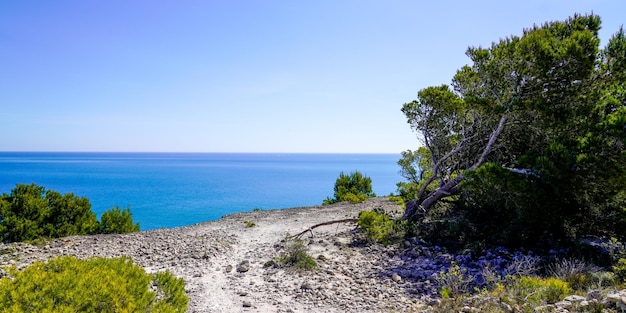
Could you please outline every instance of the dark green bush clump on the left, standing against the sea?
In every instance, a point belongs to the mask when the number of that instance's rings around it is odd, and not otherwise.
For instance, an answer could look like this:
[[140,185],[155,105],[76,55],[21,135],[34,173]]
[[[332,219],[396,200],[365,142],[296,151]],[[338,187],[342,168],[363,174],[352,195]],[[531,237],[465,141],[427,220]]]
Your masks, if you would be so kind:
[[0,241],[139,230],[130,209],[113,208],[102,216],[100,223],[85,197],[61,195],[36,184],[17,184],[11,193],[0,195]]

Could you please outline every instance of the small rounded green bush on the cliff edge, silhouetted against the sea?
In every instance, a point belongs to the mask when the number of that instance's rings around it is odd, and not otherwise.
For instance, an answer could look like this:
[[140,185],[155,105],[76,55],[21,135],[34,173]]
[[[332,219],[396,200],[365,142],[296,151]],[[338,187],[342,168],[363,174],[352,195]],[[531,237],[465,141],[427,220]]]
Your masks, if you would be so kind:
[[332,204],[336,202],[348,201],[350,203],[360,203],[367,198],[376,197],[372,191],[372,179],[364,176],[359,171],[351,172],[349,175],[341,172],[335,181],[335,197],[326,198],[322,204]]

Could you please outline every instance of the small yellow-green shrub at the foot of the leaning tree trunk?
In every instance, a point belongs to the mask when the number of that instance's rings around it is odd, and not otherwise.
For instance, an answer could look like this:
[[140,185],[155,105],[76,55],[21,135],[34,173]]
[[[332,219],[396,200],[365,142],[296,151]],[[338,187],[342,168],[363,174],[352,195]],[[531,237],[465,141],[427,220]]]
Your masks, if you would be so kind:
[[376,209],[359,213],[358,225],[369,240],[384,245],[403,238],[407,228],[406,221],[392,219],[387,213]]

